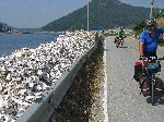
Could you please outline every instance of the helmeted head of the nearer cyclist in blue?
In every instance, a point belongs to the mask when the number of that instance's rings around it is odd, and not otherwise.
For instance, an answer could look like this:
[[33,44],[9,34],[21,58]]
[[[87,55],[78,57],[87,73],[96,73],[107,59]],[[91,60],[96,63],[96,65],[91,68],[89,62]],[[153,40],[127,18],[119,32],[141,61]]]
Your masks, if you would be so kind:
[[152,32],[154,32],[154,29],[156,27],[156,20],[155,19],[149,19],[149,20],[147,20],[145,24],[147,24],[149,33],[152,33]]

